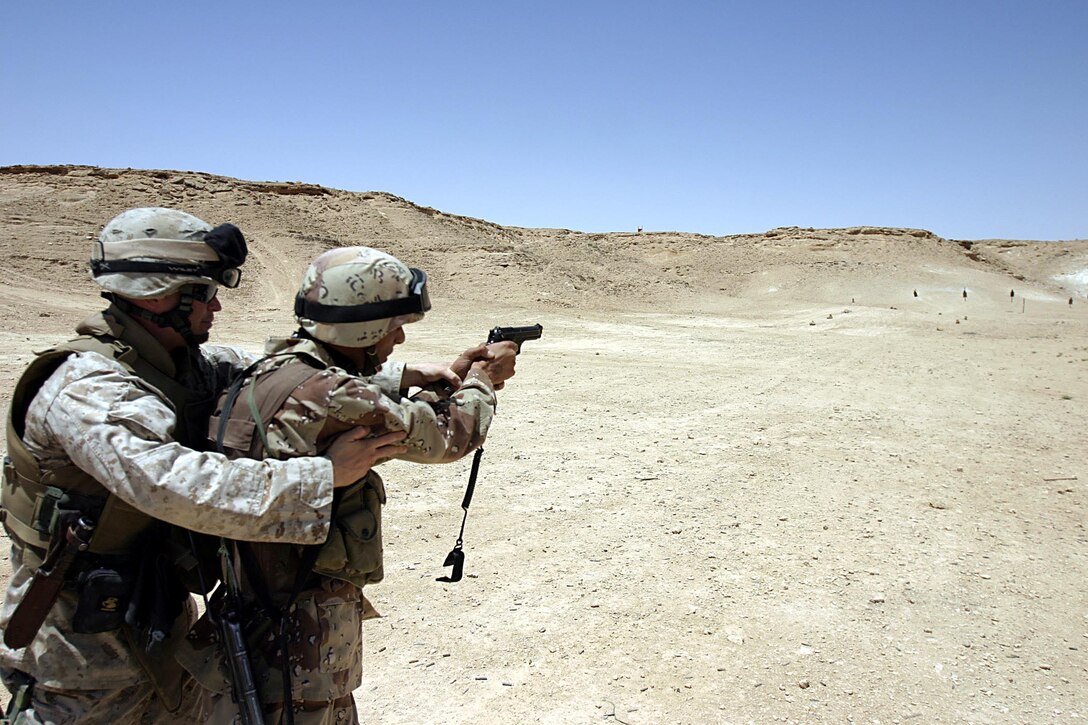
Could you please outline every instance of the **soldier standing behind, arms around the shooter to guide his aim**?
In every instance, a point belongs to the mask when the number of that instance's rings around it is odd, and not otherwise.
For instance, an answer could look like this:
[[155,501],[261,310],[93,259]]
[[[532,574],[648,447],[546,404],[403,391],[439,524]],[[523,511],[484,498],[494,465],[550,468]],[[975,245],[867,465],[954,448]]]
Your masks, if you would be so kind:
[[[237,285],[245,256],[245,239],[228,224],[213,230],[161,208],[120,214],[91,259],[108,309],[78,325],[76,340],[40,354],[21,378],[0,491],[12,540],[13,575],[0,607],[10,722],[195,722],[199,688],[173,663],[194,618],[188,593],[175,590],[164,609],[135,606],[139,563],[173,565],[140,554],[159,551],[168,523],[257,541],[323,542],[334,487],[387,455],[374,442],[337,443],[334,469],[325,457],[231,462],[203,452],[207,417],[226,377],[250,361],[201,344],[221,309],[217,291]],[[97,525],[88,550],[64,565],[66,575],[58,564],[42,567],[53,578],[36,576],[47,550],[77,551],[60,546],[76,530],[64,524],[70,512],[84,517],[81,526]],[[86,583],[91,575],[122,591],[90,600],[98,592]],[[173,578],[171,570],[163,576]],[[63,582],[55,601],[41,599],[42,582]],[[85,611],[88,603],[99,609]],[[134,620],[150,627],[122,622],[126,603]]]

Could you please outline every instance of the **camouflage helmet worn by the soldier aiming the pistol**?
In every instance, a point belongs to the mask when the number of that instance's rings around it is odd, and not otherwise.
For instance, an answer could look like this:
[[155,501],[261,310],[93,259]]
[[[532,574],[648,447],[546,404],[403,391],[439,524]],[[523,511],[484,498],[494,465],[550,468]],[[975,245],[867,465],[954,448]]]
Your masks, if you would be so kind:
[[295,317],[314,339],[370,347],[431,309],[426,274],[370,247],[331,249],[302,275]]

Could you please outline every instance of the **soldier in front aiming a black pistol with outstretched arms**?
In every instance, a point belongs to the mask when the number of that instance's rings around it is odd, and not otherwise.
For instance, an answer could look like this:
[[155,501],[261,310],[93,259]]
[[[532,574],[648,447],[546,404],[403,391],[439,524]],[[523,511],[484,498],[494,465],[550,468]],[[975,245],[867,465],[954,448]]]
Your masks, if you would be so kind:
[[[221,400],[211,434],[233,456],[290,459],[318,455],[339,431],[367,426],[375,434],[404,431],[401,459],[465,456],[486,435],[494,390],[514,374],[516,346],[480,345],[458,357],[454,374],[434,369],[401,381],[405,391],[440,376],[456,382],[441,403],[383,391],[371,376],[404,341],[404,325],[429,308],[426,275],[387,254],[348,247],[321,255],[296,298],[299,330],[269,342],[270,357],[232,391],[233,401],[232,393]],[[382,579],[384,503],[382,479],[371,470],[337,492],[323,546],[237,542],[246,639],[269,725],[358,722],[351,693],[362,681],[361,623],[376,614],[362,587]],[[193,656],[183,661],[211,692],[203,717],[232,722],[237,705],[206,620],[190,639]]]

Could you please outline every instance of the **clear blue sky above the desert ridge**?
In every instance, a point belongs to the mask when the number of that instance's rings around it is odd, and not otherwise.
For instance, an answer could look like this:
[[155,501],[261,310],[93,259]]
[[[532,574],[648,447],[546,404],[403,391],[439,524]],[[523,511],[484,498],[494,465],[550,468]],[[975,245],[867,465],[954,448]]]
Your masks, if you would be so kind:
[[1088,238],[1088,1],[7,2],[0,165],[581,231]]

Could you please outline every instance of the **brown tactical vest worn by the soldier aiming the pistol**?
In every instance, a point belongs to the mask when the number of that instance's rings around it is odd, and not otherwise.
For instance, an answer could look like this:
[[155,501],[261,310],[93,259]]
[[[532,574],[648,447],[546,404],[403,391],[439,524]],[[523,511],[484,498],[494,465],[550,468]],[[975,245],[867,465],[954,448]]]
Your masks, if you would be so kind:
[[[248,374],[276,356],[298,359]],[[323,361],[311,355],[288,352],[271,355],[248,368],[234,381],[223,396],[221,409],[209,422],[210,435],[220,453],[232,458],[265,457],[268,439],[264,429],[269,421],[296,388],[325,367]],[[384,575],[382,506],[385,504],[385,486],[381,477],[372,470],[360,481],[338,489],[334,496],[329,539],[317,552],[316,560],[311,558],[314,562],[313,572],[349,581],[360,589],[363,585],[381,581]],[[270,554],[271,548],[264,546],[261,553]],[[306,562],[306,557],[299,556],[297,561]]]

